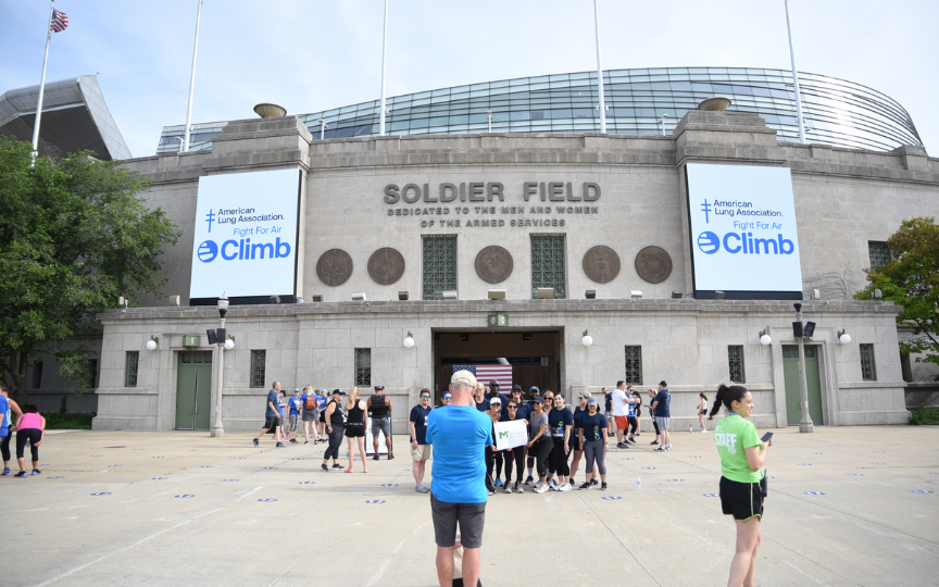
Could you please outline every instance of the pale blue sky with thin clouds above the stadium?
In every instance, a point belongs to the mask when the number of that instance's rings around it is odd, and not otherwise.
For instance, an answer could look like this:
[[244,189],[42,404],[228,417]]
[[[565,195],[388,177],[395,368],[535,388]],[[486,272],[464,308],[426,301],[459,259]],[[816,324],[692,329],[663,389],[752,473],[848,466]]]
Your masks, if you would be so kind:
[[[604,68],[788,70],[782,0],[598,0]],[[597,68],[592,0],[389,0],[387,95]],[[39,83],[49,0],[0,0],[0,93]],[[198,0],[59,0],[47,80],[98,82],[134,157],[186,123]],[[380,96],[384,0],[204,0],[192,122]],[[791,0],[799,70],[902,104],[939,157],[939,1]],[[930,103],[931,102],[931,103]]]

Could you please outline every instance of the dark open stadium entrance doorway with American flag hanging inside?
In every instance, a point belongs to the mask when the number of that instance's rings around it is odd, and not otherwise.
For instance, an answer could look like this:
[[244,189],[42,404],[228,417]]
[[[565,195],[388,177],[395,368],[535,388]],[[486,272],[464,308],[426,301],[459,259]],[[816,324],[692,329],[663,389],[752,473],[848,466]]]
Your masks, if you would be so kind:
[[[505,383],[521,385],[527,392],[533,385],[542,391],[558,391],[564,386],[563,330],[435,329],[434,392],[435,405],[450,385],[454,366],[473,366],[477,379],[488,385],[491,379],[502,383],[501,391],[510,392]],[[500,369],[501,367],[501,369]]]

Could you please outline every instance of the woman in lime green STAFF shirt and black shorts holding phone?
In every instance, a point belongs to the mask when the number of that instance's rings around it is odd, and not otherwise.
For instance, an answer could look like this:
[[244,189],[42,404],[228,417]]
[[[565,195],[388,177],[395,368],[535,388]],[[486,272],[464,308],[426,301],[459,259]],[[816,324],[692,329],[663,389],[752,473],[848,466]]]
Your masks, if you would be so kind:
[[721,455],[721,507],[737,524],[737,549],[730,563],[728,587],[754,585],[756,549],[760,547],[760,522],[763,519],[763,463],[773,441],[763,442],[749,420],[753,397],[739,385],[717,388],[717,398],[709,420],[724,405],[728,414],[714,428],[714,442]]

